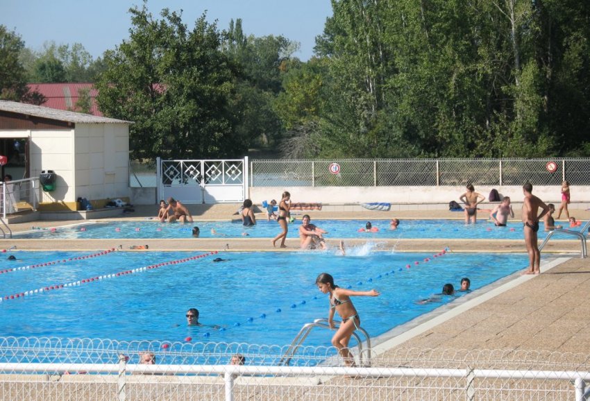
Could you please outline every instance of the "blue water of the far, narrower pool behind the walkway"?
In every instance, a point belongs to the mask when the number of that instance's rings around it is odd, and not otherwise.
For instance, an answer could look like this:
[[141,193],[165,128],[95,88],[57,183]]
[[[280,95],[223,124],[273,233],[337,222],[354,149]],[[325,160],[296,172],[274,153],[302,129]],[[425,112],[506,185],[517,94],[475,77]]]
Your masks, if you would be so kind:
[[[389,229],[389,220],[373,220],[373,227],[378,232],[358,232],[364,228],[364,220],[314,220],[315,225],[328,231],[326,238],[363,238],[367,239],[405,239],[405,238],[466,238],[466,239],[523,239],[522,223],[509,223],[507,227],[495,227],[488,221],[475,225],[465,225],[459,220],[403,220],[397,230]],[[38,239],[141,239],[141,238],[192,238],[192,227],[199,226],[201,238],[242,238],[244,233],[250,238],[272,238],[280,232],[276,221],[262,220],[254,227],[244,227],[241,223],[230,221],[195,221],[194,223],[160,223],[159,221],[111,221],[56,228],[55,230],[33,229],[15,238]],[[289,225],[287,237],[298,237],[301,220]],[[212,230],[216,233],[213,234]],[[543,224],[539,238],[545,237]],[[571,239],[564,234],[555,237]]]

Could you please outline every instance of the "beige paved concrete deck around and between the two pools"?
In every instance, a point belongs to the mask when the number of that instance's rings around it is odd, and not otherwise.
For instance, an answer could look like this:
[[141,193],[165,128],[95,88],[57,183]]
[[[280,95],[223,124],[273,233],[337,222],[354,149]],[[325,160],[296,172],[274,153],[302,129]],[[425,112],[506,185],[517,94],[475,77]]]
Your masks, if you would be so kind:
[[[206,210],[205,210],[206,209]],[[226,220],[232,216],[236,205],[191,206],[194,218],[199,220]],[[153,216],[157,207],[136,207],[131,216],[123,219],[144,220]],[[516,220],[519,219],[519,210]],[[304,214],[304,212],[302,212]],[[446,210],[416,210],[404,212],[322,212],[310,211],[312,219],[462,219],[463,214]],[[571,215],[579,220],[590,218],[587,210],[572,210]],[[262,219],[263,214],[257,214]],[[480,214],[482,217],[484,214]],[[482,221],[484,219],[481,219]],[[36,221],[34,223],[11,224],[13,232],[30,230],[32,225],[53,227],[83,221]],[[403,224],[403,221],[402,221]],[[296,223],[298,226],[298,224]],[[346,244],[364,242],[347,239]],[[149,244],[150,250],[275,250],[269,239],[141,239],[141,240],[31,240],[3,239],[0,248],[17,246],[18,250],[96,250],[116,248],[128,249],[130,245]],[[331,240],[335,245],[336,240]],[[437,251],[448,246],[453,251],[464,252],[510,252],[525,251],[523,241],[503,240],[395,240],[380,241],[380,246],[391,249],[396,245],[400,251]],[[298,248],[297,239],[287,240],[286,250]],[[514,287],[505,289],[495,296],[471,308],[455,308],[457,316],[450,316],[442,323],[432,325],[416,335],[398,341],[393,347],[403,348],[448,348],[448,349],[510,349],[558,352],[588,352],[590,348],[590,260],[581,259],[580,242],[551,241],[548,244],[552,257],[564,253],[564,262],[538,276],[514,276]],[[543,252],[543,266],[548,257]],[[525,266],[523,266],[524,268]],[[482,266],[485,268],[485,266]],[[473,296],[483,295],[474,291]],[[470,295],[472,295],[470,294]],[[455,312],[457,313],[457,312]],[[435,322],[436,323],[436,322]],[[387,352],[387,351],[386,351]]]

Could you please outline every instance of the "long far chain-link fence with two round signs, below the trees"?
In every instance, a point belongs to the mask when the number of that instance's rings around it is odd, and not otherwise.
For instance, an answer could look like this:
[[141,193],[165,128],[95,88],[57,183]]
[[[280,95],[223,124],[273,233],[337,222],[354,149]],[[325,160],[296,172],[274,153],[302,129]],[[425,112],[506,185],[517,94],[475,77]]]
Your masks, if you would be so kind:
[[251,187],[590,185],[590,158],[252,160]]

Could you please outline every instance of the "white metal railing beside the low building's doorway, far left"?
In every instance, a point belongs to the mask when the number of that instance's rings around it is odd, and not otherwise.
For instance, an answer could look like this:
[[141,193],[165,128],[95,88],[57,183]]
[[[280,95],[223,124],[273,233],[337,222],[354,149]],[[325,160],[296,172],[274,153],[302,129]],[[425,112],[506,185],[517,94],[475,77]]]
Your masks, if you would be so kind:
[[37,210],[40,191],[38,177],[2,182],[0,214],[3,219],[6,219],[7,214],[22,210]]

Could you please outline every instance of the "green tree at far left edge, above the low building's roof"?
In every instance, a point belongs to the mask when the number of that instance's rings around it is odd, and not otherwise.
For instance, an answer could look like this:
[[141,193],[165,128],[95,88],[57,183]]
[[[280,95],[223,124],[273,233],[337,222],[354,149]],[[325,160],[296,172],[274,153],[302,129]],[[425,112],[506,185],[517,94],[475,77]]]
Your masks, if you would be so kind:
[[42,104],[44,97],[26,86],[26,73],[19,60],[23,49],[19,35],[0,25],[0,99]]

